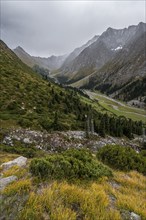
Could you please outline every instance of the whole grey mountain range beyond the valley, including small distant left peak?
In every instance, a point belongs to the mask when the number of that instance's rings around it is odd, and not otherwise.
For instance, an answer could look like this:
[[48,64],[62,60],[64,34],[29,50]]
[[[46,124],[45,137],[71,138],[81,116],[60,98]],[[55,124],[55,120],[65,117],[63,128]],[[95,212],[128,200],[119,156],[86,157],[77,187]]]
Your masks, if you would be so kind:
[[67,57],[32,57],[20,47],[14,52],[31,67],[37,64],[56,70],[53,77],[60,83],[97,89],[126,101],[146,96],[145,23],[109,27]]

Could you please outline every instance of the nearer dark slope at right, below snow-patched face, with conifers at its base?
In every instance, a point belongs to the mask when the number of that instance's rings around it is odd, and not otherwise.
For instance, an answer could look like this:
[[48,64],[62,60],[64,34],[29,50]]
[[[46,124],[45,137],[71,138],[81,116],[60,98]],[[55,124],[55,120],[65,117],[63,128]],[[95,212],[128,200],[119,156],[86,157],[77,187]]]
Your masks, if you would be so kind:
[[146,32],[117,53],[80,86],[95,88],[112,97],[131,100],[146,96]]

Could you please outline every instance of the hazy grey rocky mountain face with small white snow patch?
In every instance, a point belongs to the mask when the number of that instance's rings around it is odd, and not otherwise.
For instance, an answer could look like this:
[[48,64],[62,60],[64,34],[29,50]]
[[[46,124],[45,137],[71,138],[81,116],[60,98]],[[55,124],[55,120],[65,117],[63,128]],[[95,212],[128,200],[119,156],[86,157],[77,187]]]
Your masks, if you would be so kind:
[[73,83],[100,69],[130,41],[146,30],[144,23],[124,29],[108,28],[98,39],[86,47],[68,65],[62,66],[56,77],[61,82]]

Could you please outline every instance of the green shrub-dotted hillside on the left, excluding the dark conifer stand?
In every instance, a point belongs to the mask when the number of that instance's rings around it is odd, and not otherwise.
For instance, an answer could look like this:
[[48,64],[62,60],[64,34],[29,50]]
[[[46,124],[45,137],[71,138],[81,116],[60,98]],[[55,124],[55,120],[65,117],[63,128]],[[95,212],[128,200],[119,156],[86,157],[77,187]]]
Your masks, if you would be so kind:
[[0,42],[1,126],[82,129],[90,107],[76,92],[43,80]]

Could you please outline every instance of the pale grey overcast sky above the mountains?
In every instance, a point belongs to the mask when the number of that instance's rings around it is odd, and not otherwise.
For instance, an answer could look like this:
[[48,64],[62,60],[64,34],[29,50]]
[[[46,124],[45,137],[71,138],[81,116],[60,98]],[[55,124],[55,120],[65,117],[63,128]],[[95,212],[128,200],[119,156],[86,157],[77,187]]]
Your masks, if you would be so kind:
[[36,56],[66,54],[108,27],[145,20],[145,0],[1,0],[1,39]]

